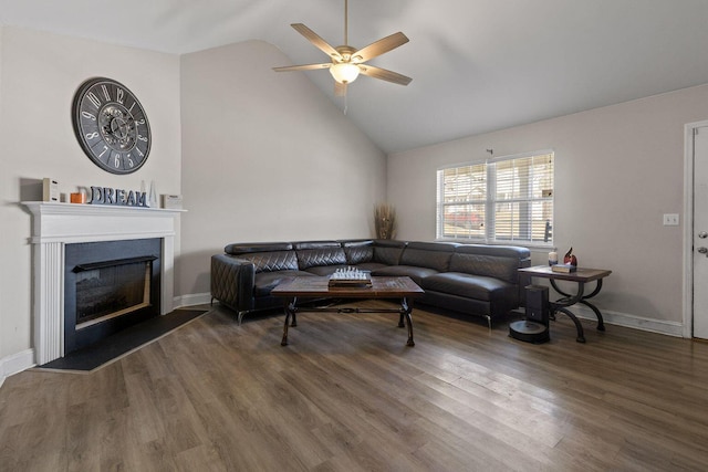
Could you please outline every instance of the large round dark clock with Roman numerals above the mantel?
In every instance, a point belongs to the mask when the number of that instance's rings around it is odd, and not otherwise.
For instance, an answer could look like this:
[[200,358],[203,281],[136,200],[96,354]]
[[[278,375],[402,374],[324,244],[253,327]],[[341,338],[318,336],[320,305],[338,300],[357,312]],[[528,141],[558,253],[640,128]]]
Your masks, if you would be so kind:
[[103,170],[131,174],[147,160],[150,125],[143,105],[123,84],[104,77],[84,82],[72,115],[81,147]]

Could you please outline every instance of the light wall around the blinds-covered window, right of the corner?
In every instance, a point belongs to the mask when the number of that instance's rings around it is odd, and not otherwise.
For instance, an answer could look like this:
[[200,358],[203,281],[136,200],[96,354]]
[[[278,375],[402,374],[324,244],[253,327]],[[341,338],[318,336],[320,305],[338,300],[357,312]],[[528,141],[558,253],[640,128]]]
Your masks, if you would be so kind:
[[559,251],[613,271],[596,298],[610,318],[680,335],[683,230],[662,216],[683,210],[684,125],[706,118],[708,85],[388,156],[398,235],[435,239],[438,167],[554,149]]

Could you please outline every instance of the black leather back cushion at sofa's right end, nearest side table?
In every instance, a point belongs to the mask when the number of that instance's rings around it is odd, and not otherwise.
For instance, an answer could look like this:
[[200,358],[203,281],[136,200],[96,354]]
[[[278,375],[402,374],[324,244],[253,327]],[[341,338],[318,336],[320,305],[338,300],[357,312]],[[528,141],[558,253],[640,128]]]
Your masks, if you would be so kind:
[[530,251],[525,248],[461,244],[450,260],[450,272],[485,275],[519,283],[517,270],[528,265]]

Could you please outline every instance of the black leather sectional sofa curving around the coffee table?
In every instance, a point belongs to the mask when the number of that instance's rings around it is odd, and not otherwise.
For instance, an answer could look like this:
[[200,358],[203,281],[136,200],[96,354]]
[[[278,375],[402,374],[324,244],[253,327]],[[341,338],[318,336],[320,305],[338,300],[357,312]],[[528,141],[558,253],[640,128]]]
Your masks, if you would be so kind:
[[413,279],[425,295],[416,303],[494,317],[517,308],[527,282],[517,270],[530,265],[530,251],[509,245],[344,240],[236,243],[211,256],[211,301],[243,315],[282,306],[271,296],[294,276],[330,275],[353,266],[372,275]]

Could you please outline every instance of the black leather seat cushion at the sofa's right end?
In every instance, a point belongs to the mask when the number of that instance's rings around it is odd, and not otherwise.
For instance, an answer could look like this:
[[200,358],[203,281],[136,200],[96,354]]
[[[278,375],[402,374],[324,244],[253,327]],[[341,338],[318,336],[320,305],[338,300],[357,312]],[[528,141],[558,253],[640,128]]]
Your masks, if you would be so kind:
[[494,277],[461,272],[445,272],[425,277],[420,287],[425,291],[448,293],[468,298],[491,302],[499,297],[516,297],[517,287]]

